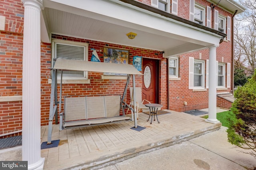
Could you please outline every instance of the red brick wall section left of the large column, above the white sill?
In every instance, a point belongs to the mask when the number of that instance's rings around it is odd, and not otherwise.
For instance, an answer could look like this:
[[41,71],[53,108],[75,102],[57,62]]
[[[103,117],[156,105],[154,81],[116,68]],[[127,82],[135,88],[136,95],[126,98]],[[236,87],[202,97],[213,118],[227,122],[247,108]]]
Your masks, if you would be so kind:
[[22,95],[21,34],[0,32],[0,96]]

